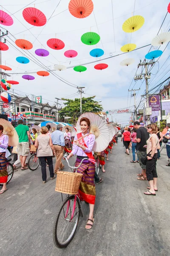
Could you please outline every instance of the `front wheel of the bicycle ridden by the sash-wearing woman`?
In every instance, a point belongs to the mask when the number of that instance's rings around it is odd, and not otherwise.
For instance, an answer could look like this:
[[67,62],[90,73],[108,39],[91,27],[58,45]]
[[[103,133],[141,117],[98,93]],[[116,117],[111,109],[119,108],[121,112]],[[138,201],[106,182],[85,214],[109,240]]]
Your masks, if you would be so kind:
[[[74,209],[74,198],[75,195],[65,198],[65,201],[63,201],[59,207],[54,221],[53,240],[55,246],[59,248],[67,247],[68,244],[70,244],[79,224],[81,205],[77,198]],[[71,219],[72,214],[73,218]]]

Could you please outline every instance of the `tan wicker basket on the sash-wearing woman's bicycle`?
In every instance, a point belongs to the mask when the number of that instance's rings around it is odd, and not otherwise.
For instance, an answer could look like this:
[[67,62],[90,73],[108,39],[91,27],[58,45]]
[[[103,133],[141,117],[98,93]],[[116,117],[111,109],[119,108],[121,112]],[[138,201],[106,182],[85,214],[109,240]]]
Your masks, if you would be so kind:
[[81,179],[81,173],[57,172],[55,191],[69,195],[77,195]]

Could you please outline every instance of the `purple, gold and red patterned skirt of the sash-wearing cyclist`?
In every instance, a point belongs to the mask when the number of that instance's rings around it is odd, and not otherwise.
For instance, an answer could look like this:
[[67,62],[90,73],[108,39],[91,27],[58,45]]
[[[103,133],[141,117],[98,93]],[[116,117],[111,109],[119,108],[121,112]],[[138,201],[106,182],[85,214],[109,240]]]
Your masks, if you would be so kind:
[[[79,166],[80,162],[81,160],[77,158],[75,167]],[[77,172],[82,173],[82,180],[79,186],[80,198],[84,199],[89,204],[94,204],[96,198],[96,189],[94,184],[94,163],[84,160],[81,166],[77,169]]]

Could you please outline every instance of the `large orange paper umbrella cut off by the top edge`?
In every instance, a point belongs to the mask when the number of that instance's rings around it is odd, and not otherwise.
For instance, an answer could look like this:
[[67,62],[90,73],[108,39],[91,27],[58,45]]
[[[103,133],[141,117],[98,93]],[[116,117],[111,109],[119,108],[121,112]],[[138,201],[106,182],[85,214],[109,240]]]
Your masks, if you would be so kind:
[[76,18],[85,18],[93,12],[93,2],[91,0],[71,0],[68,10]]

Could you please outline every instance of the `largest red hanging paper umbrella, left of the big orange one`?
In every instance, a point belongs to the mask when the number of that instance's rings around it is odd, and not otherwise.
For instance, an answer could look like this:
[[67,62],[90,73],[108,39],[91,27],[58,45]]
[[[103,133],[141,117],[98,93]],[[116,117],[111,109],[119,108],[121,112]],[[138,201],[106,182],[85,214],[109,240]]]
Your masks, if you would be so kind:
[[47,19],[43,12],[33,7],[28,7],[24,9],[23,17],[29,24],[33,26],[44,26],[47,22]]

